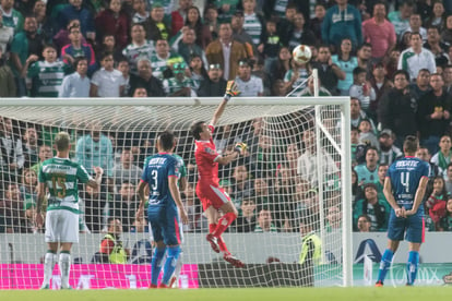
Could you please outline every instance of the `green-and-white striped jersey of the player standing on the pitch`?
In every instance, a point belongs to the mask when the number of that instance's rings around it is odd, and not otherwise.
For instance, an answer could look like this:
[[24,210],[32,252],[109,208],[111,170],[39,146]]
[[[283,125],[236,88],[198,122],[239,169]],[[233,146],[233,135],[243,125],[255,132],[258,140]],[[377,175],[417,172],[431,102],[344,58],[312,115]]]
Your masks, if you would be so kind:
[[48,188],[47,210],[79,210],[78,184],[86,183],[93,178],[86,169],[69,158],[51,158],[45,160],[39,169],[39,183]]

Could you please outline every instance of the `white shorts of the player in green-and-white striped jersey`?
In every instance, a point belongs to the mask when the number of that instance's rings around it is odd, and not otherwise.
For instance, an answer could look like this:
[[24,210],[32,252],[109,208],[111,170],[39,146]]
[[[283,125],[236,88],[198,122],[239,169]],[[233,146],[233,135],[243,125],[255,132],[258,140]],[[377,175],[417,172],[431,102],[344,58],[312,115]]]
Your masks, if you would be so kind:
[[79,242],[79,215],[66,209],[46,213],[46,242]]

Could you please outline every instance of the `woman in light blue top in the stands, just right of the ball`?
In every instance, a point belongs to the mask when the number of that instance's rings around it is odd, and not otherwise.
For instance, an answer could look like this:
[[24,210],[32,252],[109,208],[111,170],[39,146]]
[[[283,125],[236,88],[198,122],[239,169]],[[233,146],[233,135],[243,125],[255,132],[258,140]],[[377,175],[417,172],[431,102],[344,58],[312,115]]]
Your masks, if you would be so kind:
[[352,56],[352,40],[349,38],[344,38],[341,41],[337,55],[333,55],[331,60],[345,73],[345,80],[337,82],[337,88],[342,96],[348,96],[348,89],[353,84],[353,70],[358,67],[358,59]]

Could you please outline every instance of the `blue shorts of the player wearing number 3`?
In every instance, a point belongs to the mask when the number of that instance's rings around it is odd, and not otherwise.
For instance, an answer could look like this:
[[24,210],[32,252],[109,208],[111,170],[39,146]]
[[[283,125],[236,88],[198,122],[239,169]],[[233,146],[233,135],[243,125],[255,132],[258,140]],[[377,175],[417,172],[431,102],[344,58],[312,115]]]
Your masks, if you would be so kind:
[[177,245],[182,242],[182,229],[177,207],[150,206],[147,220],[154,241],[163,241],[166,245]]

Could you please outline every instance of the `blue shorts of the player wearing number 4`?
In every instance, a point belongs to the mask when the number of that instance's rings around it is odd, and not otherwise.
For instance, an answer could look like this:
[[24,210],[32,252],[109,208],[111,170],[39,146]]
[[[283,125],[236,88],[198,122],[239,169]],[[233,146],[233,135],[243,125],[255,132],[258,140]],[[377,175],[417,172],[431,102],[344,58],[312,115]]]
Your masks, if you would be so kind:
[[[405,234],[406,233],[406,234]],[[396,217],[395,212],[391,210],[388,224],[388,238],[390,240],[404,240],[421,243],[425,240],[424,214],[417,213],[407,218]]]

